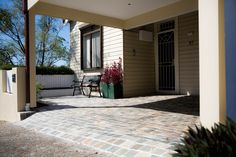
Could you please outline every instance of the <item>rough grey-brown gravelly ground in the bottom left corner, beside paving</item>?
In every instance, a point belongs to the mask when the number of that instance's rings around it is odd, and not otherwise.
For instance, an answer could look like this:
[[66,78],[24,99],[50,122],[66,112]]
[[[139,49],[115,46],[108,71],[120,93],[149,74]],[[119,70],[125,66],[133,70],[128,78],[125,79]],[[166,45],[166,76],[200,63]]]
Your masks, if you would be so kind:
[[0,121],[1,157],[108,157],[63,139]]

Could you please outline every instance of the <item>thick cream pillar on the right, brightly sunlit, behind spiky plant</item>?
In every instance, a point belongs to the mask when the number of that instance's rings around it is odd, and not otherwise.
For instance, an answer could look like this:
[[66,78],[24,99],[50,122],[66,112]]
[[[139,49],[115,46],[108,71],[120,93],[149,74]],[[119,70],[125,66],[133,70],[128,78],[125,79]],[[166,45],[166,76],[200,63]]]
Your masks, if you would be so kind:
[[225,122],[224,0],[199,0],[200,120]]

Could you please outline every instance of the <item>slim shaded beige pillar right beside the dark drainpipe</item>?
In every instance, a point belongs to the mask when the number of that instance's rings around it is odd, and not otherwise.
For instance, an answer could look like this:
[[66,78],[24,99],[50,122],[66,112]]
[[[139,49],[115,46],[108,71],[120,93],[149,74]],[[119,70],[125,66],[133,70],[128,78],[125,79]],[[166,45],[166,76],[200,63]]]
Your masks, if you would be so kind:
[[35,14],[29,11],[30,107],[36,107]]

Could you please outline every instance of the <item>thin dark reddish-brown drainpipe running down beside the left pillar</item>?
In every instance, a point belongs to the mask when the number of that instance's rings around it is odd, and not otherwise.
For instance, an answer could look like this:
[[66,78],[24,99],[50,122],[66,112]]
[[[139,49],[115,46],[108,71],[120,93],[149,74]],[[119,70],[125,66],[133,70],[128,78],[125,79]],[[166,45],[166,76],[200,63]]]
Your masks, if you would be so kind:
[[26,106],[25,109],[29,109],[30,104],[30,56],[29,56],[29,11],[28,0],[23,1],[23,13],[24,13],[24,31],[25,31],[25,63],[26,63]]

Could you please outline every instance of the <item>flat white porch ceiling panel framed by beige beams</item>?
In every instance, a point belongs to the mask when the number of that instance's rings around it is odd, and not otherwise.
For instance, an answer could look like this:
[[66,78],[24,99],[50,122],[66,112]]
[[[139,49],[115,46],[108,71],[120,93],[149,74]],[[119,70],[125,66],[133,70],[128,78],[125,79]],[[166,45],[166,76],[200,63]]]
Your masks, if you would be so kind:
[[[164,7],[180,0],[40,0],[45,3],[63,6],[120,20]],[[129,5],[130,4],[130,5]]]

